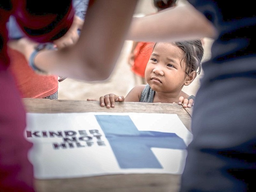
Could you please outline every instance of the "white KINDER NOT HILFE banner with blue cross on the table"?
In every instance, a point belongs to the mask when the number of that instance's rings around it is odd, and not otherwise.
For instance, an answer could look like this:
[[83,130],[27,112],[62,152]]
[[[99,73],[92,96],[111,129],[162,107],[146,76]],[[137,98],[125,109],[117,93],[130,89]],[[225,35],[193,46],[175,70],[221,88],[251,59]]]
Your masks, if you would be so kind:
[[27,113],[37,179],[181,174],[192,134],[176,114]]

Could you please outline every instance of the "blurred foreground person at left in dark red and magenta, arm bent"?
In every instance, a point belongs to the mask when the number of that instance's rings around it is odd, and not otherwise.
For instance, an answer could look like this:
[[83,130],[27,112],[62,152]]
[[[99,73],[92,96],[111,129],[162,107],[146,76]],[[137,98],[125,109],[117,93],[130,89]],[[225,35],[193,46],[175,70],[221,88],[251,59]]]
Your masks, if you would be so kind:
[[[107,79],[123,47],[136,3],[136,0],[90,0],[84,20],[86,27],[83,26],[77,43],[58,50],[41,47],[30,66],[44,75],[85,81]],[[33,167],[28,160],[32,144],[24,137],[26,113],[14,78],[8,71],[6,23],[11,15],[30,39],[52,43],[70,28],[74,8],[67,0],[61,4],[52,4],[50,0],[2,0],[0,3],[0,191],[30,192],[34,191]],[[34,47],[27,51],[30,56]],[[28,55],[25,58],[29,58]]]

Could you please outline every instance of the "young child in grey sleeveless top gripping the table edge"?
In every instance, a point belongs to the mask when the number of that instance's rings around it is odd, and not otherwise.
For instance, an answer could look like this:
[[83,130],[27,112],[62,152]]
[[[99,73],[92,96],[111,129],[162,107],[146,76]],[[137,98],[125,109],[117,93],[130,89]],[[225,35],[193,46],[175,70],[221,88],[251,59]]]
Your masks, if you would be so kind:
[[[181,91],[201,71],[204,49],[201,40],[153,44],[145,70],[147,85],[135,86],[124,98],[115,94],[100,97],[100,106],[114,108],[115,102],[178,103],[190,108],[193,96]],[[198,71],[197,71],[198,69]],[[91,99],[87,99],[91,100]]]

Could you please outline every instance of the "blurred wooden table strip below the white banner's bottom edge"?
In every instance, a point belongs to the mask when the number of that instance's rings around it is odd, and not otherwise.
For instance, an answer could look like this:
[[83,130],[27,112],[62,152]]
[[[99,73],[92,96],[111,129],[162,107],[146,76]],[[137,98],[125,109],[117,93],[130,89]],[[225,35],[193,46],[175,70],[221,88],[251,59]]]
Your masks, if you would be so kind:
[[35,180],[37,192],[178,192],[180,175],[124,174]]

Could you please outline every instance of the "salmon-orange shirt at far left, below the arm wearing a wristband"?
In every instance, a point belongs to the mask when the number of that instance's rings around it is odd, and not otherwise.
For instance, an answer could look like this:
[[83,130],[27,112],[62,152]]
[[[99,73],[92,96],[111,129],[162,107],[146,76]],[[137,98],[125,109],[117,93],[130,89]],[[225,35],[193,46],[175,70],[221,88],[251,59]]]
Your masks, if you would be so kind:
[[58,91],[58,76],[40,75],[28,66],[26,58],[8,48],[9,69],[15,78],[22,98],[44,98]]

